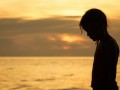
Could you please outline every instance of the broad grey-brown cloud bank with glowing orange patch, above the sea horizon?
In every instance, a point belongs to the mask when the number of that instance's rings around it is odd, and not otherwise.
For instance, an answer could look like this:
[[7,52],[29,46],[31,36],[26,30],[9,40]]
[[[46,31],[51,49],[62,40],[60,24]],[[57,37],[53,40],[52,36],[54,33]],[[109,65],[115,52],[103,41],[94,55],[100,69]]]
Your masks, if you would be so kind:
[[[81,34],[76,18],[0,19],[0,56],[93,55],[95,44],[85,32]],[[111,20],[110,33],[120,45],[119,24]]]

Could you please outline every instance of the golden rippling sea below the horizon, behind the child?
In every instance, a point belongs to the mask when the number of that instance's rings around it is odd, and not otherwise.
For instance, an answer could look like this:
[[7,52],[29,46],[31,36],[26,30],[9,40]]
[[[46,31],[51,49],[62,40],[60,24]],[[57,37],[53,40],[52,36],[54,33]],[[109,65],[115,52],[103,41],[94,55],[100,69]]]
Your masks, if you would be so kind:
[[92,64],[93,57],[0,57],[0,90],[92,90]]

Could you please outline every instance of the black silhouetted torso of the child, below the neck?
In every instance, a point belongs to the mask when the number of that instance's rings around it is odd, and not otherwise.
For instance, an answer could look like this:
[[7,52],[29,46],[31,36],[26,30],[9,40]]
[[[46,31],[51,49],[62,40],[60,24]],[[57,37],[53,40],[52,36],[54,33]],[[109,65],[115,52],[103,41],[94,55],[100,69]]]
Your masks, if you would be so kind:
[[113,38],[101,41],[96,48],[91,86],[115,84],[119,47]]

